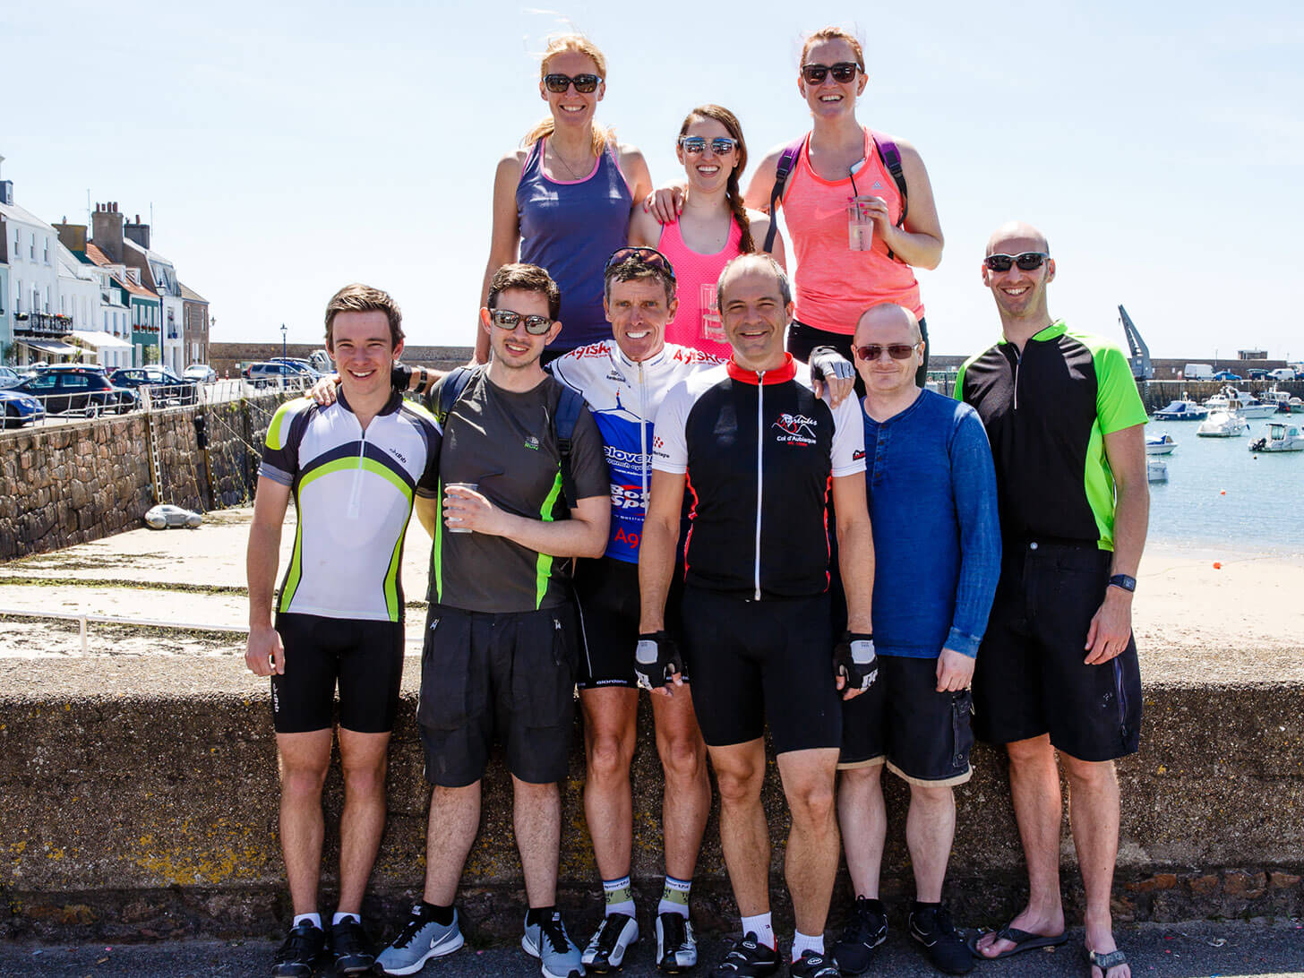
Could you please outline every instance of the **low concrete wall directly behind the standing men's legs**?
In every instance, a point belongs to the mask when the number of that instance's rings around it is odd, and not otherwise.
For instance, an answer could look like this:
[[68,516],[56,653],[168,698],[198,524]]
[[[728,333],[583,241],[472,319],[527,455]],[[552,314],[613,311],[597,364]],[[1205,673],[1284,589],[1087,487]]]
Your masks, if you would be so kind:
[[[1221,649],[1192,648],[1148,665],[1141,752],[1119,764],[1123,825],[1114,911],[1129,921],[1304,913],[1304,665],[1277,656],[1271,682]],[[1247,649],[1245,655],[1253,655]],[[364,915],[393,934],[420,893],[428,788],[413,725],[419,672],[408,660],[391,747],[389,820]],[[660,765],[647,698],[634,764],[634,878],[655,905],[662,872]],[[288,923],[276,828],[275,741],[266,681],[230,656],[98,656],[0,660],[0,935],[60,941],[158,936],[275,936]],[[579,728],[563,785],[559,904],[587,932],[600,913],[583,814]],[[979,747],[958,788],[958,832],[947,896],[962,923],[1003,923],[1026,895],[1003,756]],[[892,829],[884,898],[913,893],[901,784],[885,776]],[[480,838],[459,895],[472,939],[511,939],[523,913],[511,788],[494,758]],[[326,875],[335,885],[338,772],[327,782]],[[786,832],[771,764],[772,837]],[[772,891],[782,902],[782,845]],[[1081,918],[1081,882],[1065,832],[1064,889]],[[848,906],[836,891],[831,928]],[[694,884],[700,928],[735,926],[719,845],[719,807]],[[580,921],[584,921],[582,925]]]

